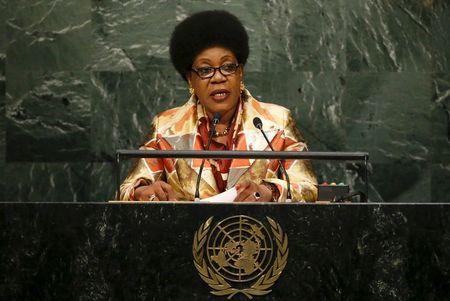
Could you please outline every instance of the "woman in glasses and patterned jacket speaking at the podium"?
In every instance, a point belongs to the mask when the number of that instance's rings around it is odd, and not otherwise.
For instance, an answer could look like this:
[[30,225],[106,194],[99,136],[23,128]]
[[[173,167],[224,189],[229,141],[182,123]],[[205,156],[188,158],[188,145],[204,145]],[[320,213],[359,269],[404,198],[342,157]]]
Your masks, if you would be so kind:
[[[210,150],[268,150],[253,118],[263,120],[264,131],[276,151],[302,151],[306,144],[289,110],[254,99],[243,84],[249,54],[248,36],[241,22],[225,11],[196,13],[176,26],[170,56],[187,81],[190,99],[153,120],[153,136],[141,149],[206,149],[214,114],[220,121]],[[141,159],[121,185],[123,200],[194,200],[201,159]],[[294,201],[315,201],[316,178],[306,160],[283,163]],[[235,201],[286,200],[286,181],[278,178],[277,160],[206,160],[200,197],[236,187]]]

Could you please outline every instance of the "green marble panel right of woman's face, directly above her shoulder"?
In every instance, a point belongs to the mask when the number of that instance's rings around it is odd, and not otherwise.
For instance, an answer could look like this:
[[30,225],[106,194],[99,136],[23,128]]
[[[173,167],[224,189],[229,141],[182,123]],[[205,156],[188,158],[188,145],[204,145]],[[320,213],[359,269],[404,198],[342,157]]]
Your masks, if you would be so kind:
[[342,95],[345,79],[335,73],[250,72],[245,82],[254,97],[291,110],[312,151],[343,151]]

